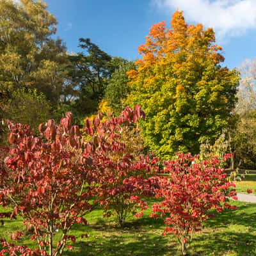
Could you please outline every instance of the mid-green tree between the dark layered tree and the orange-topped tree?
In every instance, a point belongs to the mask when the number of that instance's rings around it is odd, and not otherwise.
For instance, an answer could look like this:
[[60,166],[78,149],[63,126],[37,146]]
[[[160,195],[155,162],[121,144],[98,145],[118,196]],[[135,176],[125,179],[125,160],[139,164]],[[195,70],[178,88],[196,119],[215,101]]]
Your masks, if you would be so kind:
[[122,61],[109,79],[105,97],[115,113],[120,113],[124,109],[124,100],[131,91],[127,86],[127,72],[131,69],[136,70],[134,61]]

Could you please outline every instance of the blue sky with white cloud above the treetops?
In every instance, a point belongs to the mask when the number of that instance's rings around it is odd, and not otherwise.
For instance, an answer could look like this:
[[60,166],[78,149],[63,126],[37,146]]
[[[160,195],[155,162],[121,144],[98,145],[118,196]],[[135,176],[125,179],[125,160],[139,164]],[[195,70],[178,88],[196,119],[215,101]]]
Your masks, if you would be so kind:
[[187,23],[202,23],[216,31],[225,65],[238,67],[256,56],[256,0],[46,0],[58,20],[57,36],[68,52],[79,51],[78,38],[91,38],[112,56],[139,58],[152,24],[184,11]]

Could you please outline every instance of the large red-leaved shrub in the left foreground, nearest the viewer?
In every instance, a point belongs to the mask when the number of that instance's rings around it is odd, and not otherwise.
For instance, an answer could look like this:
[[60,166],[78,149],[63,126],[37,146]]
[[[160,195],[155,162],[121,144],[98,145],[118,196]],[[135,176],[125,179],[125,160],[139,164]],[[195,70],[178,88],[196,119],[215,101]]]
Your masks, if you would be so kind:
[[[33,229],[31,240],[38,248],[30,250],[3,240],[0,255],[61,255],[67,241],[76,240],[68,236],[68,230],[74,223],[85,225],[83,216],[92,211],[90,184],[95,179],[88,175],[90,159],[83,150],[81,132],[72,126],[71,113],[66,113],[60,125],[53,120],[41,124],[42,138],[28,125],[8,122],[8,127],[10,148],[0,173],[0,205],[12,207],[10,218],[22,216],[24,225]],[[62,231],[58,243],[54,242],[56,228]],[[22,232],[15,232],[12,239],[19,236]]]

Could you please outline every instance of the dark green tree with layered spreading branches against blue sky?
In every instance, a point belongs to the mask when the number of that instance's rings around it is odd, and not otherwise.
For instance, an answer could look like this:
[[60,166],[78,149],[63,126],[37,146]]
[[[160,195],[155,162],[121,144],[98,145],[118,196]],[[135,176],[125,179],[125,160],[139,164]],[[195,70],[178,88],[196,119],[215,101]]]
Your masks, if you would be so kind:
[[111,57],[93,44],[90,38],[80,38],[79,42],[83,52],[68,56],[70,77],[80,92],[77,108],[83,114],[93,113],[104,96],[109,77],[124,60]]

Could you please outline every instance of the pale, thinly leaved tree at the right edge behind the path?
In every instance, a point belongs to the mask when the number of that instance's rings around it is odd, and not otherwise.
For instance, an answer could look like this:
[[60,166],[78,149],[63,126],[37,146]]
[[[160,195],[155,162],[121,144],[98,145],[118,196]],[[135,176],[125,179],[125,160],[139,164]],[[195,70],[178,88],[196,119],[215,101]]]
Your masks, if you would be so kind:
[[239,67],[241,81],[234,109],[236,118],[230,129],[230,140],[238,167],[255,168],[256,160],[256,58]]

